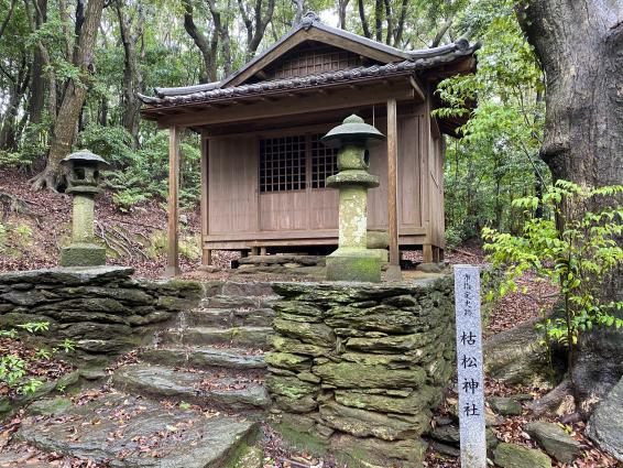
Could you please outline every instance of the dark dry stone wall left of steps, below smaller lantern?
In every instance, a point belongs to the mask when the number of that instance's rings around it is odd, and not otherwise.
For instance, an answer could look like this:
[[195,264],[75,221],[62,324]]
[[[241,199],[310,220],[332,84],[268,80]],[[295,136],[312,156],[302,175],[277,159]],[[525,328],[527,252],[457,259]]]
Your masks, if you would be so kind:
[[[195,306],[201,285],[136,280],[122,266],[57,268],[0,274],[0,328],[47,322],[35,337],[76,344],[74,358],[103,364],[149,342],[159,324]],[[69,355],[72,356],[72,355]]]

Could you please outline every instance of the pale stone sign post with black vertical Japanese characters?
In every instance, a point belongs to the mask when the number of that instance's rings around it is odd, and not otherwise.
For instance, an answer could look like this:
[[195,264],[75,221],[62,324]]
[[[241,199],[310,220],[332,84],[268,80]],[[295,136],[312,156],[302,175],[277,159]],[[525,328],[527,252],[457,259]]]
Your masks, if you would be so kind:
[[461,467],[487,467],[484,379],[478,266],[455,265]]

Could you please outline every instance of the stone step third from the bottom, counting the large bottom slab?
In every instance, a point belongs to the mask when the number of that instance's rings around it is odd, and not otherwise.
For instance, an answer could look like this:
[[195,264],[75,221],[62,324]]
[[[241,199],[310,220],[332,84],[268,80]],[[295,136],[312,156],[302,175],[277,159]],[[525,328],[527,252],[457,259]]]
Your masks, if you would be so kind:
[[232,369],[259,370],[266,368],[263,352],[229,347],[165,347],[139,351],[143,361],[181,368],[203,370]]

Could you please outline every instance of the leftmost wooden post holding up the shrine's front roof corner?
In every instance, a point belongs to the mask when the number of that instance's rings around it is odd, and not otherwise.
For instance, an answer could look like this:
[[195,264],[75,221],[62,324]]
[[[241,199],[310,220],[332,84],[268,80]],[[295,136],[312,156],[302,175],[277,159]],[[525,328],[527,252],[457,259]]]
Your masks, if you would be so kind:
[[168,128],[168,249],[166,257],[166,276],[179,274],[179,127]]

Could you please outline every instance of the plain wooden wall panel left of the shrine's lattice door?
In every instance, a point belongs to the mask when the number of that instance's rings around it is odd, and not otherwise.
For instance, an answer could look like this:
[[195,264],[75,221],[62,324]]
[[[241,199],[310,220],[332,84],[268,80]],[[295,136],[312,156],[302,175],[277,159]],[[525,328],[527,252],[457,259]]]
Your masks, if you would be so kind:
[[209,140],[210,233],[258,227],[258,144],[254,137]]

